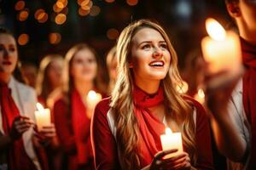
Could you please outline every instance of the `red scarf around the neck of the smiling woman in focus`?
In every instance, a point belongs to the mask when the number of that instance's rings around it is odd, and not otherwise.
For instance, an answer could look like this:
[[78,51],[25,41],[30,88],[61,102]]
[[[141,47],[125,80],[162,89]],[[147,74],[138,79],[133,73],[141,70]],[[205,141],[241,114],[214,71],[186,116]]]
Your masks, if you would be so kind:
[[165,133],[166,126],[148,110],[148,107],[159,105],[164,101],[163,89],[159,88],[154,95],[143,92],[137,86],[133,90],[134,113],[141,133],[139,145],[141,166],[145,167],[162,150],[160,135]]

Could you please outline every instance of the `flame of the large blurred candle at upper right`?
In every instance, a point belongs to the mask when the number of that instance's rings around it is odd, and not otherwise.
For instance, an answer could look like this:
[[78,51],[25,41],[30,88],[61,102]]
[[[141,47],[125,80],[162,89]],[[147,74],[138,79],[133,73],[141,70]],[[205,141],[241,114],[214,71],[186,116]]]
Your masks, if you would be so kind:
[[218,23],[217,20],[212,18],[206,21],[207,32],[214,40],[223,41],[226,37],[226,32],[224,28]]

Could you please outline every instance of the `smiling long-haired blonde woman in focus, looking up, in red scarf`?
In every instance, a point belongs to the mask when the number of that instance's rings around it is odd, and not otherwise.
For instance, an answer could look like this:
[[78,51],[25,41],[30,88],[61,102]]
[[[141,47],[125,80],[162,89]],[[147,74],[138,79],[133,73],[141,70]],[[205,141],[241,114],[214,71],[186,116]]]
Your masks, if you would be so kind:
[[[92,119],[96,169],[213,169],[203,107],[179,94],[177,55],[163,28],[149,20],[125,27],[117,43],[118,77]],[[166,127],[183,136],[183,152],[162,150]]]

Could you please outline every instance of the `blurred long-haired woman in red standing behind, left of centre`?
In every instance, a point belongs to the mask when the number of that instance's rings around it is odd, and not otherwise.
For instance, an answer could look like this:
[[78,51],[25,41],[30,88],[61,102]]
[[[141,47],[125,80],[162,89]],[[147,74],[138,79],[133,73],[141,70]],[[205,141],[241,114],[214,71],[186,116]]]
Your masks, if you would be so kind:
[[[90,143],[90,117],[96,103],[87,99],[98,91],[96,54],[86,44],[69,49],[64,60],[63,95],[53,108],[61,149],[68,169],[94,169]],[[65,164],[67,163],[67,165]]]

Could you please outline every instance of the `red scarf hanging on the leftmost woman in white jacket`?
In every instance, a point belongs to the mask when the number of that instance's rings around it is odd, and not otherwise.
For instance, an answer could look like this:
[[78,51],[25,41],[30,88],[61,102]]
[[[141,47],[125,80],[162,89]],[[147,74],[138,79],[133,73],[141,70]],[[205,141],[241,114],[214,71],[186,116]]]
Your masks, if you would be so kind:
[[[10,94],[7,84],[0,83],[0,105],[2,111],[3,131],[9,134],[15,117],[20,116],[20,111]],[[32,170],[37,169],[32,160],[27,156],[22,137],[15,140],[9,146],[8,166],[11,170]]]

